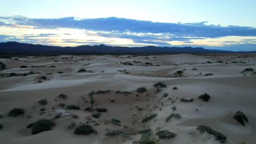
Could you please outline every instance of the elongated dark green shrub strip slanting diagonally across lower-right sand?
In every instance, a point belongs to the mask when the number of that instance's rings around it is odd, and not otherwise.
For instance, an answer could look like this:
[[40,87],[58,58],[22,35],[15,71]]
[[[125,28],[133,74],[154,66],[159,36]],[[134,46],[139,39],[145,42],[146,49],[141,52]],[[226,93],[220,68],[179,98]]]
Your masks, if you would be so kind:
[[218,131],[213,130],[211,127],[207,127],[205,125],[199,125],[197,126],[196,130],[199,130],[200,133],[204,133],[206,131],[207,133],[214,135],[215,139],[220,143],[226,142],[226,136],[223,135],[222,133],[219,133]]

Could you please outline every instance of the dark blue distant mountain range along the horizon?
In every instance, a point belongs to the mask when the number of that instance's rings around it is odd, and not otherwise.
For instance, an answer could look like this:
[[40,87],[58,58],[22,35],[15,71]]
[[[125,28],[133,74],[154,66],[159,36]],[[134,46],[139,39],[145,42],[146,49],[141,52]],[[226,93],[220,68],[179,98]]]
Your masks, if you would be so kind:
[[34,45],[18,42],[0,43],[0,53],[58,53],[58,54],[161,54],[161,53],[212,53],[212,52],[232,52],[223,50],[208,50],[202,47],[123,47],[106,45],[82,45],[75,47]]

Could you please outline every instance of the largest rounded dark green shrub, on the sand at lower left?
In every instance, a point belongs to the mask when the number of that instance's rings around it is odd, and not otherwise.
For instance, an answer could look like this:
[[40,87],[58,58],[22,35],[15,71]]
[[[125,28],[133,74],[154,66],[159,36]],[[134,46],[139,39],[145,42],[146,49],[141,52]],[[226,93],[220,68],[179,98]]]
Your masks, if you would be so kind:
[[39,119],[38,121],[32,123],[31,125],[31,133],[32,135],[41,133],[43,131],[51,130],[55,126],[55,122],[51,119]]

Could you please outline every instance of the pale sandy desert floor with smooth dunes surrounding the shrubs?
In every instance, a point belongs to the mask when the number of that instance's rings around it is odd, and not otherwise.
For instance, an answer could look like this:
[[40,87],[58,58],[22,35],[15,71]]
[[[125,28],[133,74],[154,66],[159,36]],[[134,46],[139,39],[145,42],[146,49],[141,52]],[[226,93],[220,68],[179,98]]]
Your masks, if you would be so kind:
[[[214,135],[196,130],[197,125],[206,125],[224,134],[225,143],[256,143],[256,55],[250,53],[62,55],[1,58],[0,62],[6,65],[0,74],[40,73],[0,78],[0,124],[3,125],[0,143],[3,144],[132,143],[141,139],[138,131],[148,128],[152,130],[150,139],[156,143],[219,143]],[[22,65],[27,68],[20,68]],[[241,73],[246,68],[254,71]],[[77,73],[79,69],[86,72]],[[178,70],[181,74],[176,73]],[[154,87],[157,82],[167,87],[157,91]],[[139,87],[145,87],[147,92],[138,93]],[[105,94],[89,96],[91,91],[108,89],[110,92]],[[198,98],[204,93],[211,96],[208,102]],[[60,94],[67,95],[67,99],[61,99]],[[186,103],[182,98],[194,101]],[[41,99],[47,99],[48,104],[40,105]],[[95,101],[93,105],[91,99]],[[79,106],[80,110],[66,110],[60,103]],[[84,110],[91,106],[106,108],[107,112],[101,112],[99,118],[92,117],[97,111]],[[173,106],[177,110],[173,111]],[[25,113],[8,116],[15,107],[24,109]],[[58,114],[60,110],[63,113]],[[249,123],[245,126],[238,123],[233,118],[236,111],[245,113]],[[158,114],[155,118],[141,122],[154,113]],[[166,122],[171,113],[179,113],[181,118],[173,117]],[[52,130],[32,135],[26,127],[40,118],[54,119],[56,125]],[[120,125],[111,123],[112,118],[120,120]],[[90,124],[97,134],[75,135],[75,128],[68,127],[72,122]],[[113,130],[129,135],[105,135]],[[155,135],[158,130],[170,130],[177,135],[173,139],[159,139]]]

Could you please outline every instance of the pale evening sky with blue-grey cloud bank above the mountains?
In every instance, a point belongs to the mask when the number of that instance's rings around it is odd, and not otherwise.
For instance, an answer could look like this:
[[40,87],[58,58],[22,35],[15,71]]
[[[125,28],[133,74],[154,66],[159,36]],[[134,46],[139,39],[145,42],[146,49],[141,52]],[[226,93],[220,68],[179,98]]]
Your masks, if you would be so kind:
[[256,51],[253,0],[0,2],[0,42]]

